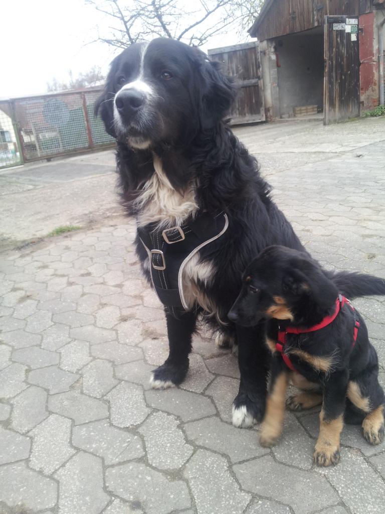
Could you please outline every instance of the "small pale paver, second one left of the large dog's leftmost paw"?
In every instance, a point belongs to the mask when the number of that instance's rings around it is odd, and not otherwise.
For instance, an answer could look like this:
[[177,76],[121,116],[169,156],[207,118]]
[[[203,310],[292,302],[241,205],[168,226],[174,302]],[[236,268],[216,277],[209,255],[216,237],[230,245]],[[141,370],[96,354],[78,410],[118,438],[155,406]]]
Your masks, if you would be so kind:
[[83,370],[83,391],[94,398],[101,398],[118,384],[113,378],[111,362],[94,360],[87,364]]

